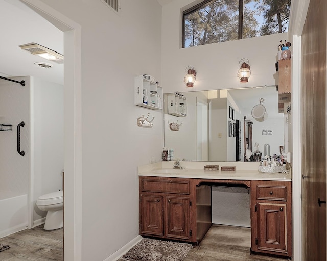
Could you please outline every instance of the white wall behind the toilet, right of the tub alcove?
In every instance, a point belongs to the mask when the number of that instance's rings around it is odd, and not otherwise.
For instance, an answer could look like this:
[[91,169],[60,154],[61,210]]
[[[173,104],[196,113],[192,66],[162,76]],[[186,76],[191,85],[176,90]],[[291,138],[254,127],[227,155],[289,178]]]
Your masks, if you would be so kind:
[[46,216],[35,205],[39,196],[62,190],[63,85],[33,78],[34,217]]

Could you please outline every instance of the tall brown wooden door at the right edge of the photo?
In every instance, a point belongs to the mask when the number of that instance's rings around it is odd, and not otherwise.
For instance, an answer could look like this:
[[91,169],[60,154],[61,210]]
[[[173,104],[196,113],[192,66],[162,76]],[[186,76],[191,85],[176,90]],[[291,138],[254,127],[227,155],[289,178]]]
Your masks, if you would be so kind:
[[302,260],[326,260],[326,17],[325,0],[311,0],[301,43]]

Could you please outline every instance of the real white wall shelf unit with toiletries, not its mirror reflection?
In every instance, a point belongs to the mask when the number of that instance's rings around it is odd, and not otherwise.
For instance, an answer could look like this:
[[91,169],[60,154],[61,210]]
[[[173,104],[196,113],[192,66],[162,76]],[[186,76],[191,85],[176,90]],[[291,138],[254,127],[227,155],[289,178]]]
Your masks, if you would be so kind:
[[148,79],[143,75],[135,77],[135,96],[134,102],[137,106],[146,107],[152,110],[162,110],[164,102],[164,92],[162,87]]

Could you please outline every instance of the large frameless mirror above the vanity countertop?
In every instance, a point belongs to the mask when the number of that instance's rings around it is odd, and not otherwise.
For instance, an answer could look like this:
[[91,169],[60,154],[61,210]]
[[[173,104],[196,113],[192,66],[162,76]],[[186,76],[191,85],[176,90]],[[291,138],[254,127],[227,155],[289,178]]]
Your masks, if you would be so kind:
[[[288,150],[288,114],[278,109],[276,86],[181,94],[186,116],[180,117],[168,112],[175,100],[164,95],[165,147],[174,150],[174,159],[259,161],[267,154],[280,155],[281,148]],[[260,103],[267,115],[256,120],[251,112]]]

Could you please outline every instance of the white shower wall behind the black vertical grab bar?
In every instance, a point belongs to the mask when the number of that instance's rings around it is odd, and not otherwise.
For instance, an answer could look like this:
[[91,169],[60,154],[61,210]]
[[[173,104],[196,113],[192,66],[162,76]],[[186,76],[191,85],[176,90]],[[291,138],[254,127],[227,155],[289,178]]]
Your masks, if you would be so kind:
[[[0,190],[28,194],[30,177],[30,77],[15,77],[18,83],[0,80],[0,124],[12,124],[12,131],[0,132]],[[17,125],[20,127],[20,150],[17,152]],[[3,210],[6,211],[6,210]]]

